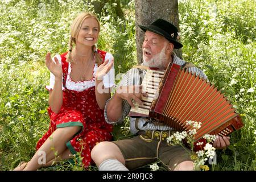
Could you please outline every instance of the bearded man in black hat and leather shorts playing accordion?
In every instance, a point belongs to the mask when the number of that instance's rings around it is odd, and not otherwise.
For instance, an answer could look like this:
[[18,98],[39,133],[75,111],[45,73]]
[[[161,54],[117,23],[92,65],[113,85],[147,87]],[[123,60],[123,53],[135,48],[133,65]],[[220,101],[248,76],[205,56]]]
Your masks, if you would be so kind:
[[[139,27],[145,32],[142,45],[142,65],[166,69],[170,61],[179,65],[185,63],[172,52],[174,48],[182,47],[182,44],[177,42],[177,28],[172,23],[157,19],[148,27]],[[200,69],[196,67],[187,69],[189,72],[207,79],[207,76]],[[145,73],[146,71],[143,71],[143,75]],[[142,104],[141,98],[146,94],[141,92],[139,75],[139,69],[132,68],[122,78],[117,92],[106,102],[106,122],[122,122],[129,114],[131,107],[134,106],[134,101]],[[131,92],[135,90],[140,90],[140,92]],[[101,142],[93,148],[92,159],[99,170],[135,169],[154,163],[158,159],[171,170],[193,169],[191,157],[182,146],[169,146],[167,144],[166,138],[174,133],[171,127],[154,125],[143,118],[130,118],[130,130],[131,133],[139,133],[139,135],[131,139]],[[158,139],[158,136],[160,136],[160,139]],[[164,140],[162,140],[162,137]],[[228,145],[228,137],[219,137],[213,144],[217,148],[225,148]]]

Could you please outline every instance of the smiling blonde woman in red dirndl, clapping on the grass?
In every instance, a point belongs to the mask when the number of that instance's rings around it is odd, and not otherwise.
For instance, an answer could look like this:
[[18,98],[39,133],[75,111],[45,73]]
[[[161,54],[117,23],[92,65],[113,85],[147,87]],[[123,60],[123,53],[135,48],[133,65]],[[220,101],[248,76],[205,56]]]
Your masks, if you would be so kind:
[[96,49],[99,32],[96,16],[81,13],[73,20],[68,52],[56,55],[54,61],[47,53],[51,123],[32,159],[14,170],[36,170],[77,154],[86,168],[92,164],[95,144],[112,139],[112,126],[105,122],[102,109],[114,85],[113,56]]

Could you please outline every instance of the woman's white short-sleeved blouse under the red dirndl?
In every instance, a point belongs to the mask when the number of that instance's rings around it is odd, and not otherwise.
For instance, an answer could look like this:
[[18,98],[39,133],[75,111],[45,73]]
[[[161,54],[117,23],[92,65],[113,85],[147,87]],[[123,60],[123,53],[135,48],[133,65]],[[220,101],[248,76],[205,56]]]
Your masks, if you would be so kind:
[[[61,64],[61,57],[60,55],[55,55],[54,57],[57,58],[57,60],[59,60],[59,63]],[[112,56],[111,53],[107,52],[106,56],[105,56],[105,60],[110,60],[114,59],[114,57]],[[52,58],[52,60],[54,61],[54,59]],[[94,59],[95,62],[95,59]],[[108,64],[109,64],[108,63]],[[90,78],[90,80],[85,80],[85,81],[73,81],[72,78],[70,77],[71,74],[71,63],[68,63],[68,75],[67,75],[67,80],[66,80],[66,87],[69,90],[76,90],[76,91],[83,91],[85,89],[88,89],[92,86],[95,86],[95,75],[96,75],[96,70],[98,68],[98,65],[96,63],[94,63],[94,68],[93,68],[93,77]],[[112,86],[114,86],[114,64],[112,66],[112,68],[110,69],[110,71],[104,76],[102,77],[102,82],[104,84],[105,88],[112,88]],[[47,90],[53,90],[53,86],[54,86],[54,82],[55,82],[55,76],[53,75],[53,73],[50,72],[50,80],[49,80],[49,85],[46,86]],[[62,90],[64,90],[65,88],[63,87],[62,84]]]

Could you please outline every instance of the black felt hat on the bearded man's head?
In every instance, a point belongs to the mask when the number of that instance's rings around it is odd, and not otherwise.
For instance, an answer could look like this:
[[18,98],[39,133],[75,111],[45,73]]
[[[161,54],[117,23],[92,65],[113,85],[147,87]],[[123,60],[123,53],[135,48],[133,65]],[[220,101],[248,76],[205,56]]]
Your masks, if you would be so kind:
[[179,42],[177,42],[177,27],[174,26],[174,24],[167,22],[164,19],[157,19],[155,22],[151,23],[150,26],[144,27],[139,25],[139,27],[146,32],[151,31],[156,34],[164,36],[167,40],[169,40],[171,43],[174,44],[174,48],[178,49],[183,47],[183,45]]

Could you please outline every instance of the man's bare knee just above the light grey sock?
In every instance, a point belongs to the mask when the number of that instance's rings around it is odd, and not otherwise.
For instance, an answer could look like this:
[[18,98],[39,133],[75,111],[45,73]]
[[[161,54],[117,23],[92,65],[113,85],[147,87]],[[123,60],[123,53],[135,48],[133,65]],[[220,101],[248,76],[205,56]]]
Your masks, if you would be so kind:
[[[122,153],[119,148],[112,142],[100,142],[93,147],[91,156],[93,161],[99,166],[107,159],[120,159]],[[120,156],[121,155],[121,156]]]

